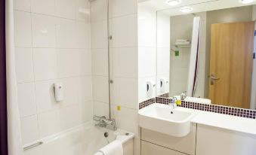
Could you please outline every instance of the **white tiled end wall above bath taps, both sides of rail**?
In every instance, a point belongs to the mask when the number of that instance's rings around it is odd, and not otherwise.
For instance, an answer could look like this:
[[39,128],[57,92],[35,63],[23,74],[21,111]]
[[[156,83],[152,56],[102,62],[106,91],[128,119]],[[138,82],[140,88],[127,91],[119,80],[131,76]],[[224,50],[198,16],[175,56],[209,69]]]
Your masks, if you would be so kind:
[[[91,53],[94,114],[109,115],[106,0],[91,2]],[[110,78],[112,117],[118,128],[134,132],[137,138],[137,1],[109,1]],[[116,107],[120,105],[121,111]]]

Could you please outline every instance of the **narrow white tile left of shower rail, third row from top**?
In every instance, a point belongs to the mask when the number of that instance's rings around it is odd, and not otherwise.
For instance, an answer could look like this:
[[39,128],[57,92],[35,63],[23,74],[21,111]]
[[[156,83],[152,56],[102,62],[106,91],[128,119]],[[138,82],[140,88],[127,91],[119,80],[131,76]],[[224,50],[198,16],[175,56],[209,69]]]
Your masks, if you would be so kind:
[[107,49],[92,49],[92,74],[107,76],[108,73],[108,52]]

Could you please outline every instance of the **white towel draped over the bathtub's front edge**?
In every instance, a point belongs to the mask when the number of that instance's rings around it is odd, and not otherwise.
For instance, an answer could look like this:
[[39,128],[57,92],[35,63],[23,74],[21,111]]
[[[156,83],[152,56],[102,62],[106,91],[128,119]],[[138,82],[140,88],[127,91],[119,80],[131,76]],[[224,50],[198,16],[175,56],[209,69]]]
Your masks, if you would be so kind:
[[119,140],[112,141],[105,147],[100,148],[95,155],[100,155],[100,153],[104,153],[104,155],[123,155],[122,142]]

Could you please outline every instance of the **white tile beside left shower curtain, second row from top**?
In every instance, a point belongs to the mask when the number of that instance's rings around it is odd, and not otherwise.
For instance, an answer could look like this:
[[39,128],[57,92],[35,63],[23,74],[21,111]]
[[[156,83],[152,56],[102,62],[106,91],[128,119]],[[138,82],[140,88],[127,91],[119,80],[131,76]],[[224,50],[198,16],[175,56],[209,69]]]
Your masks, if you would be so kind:
[[14,11],[14,41],[16,47],[32,47],[31,15]]

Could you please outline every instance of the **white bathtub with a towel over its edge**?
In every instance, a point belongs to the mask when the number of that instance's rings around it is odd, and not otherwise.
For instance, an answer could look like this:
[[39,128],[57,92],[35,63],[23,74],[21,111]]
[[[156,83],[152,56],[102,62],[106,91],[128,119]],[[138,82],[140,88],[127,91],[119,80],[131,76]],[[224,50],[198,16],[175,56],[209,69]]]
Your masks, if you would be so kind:
[[[25,150],[24,154],[91,155],[108,144],[108,141],[104,137],[105,132],[109,133],[107,138],[109,142],[115,140],[115,138],[122,141],[125,155],[133,154],[133,133],[125,132],[120,129],[114,132],[113,130],[95,127],[92,123],[44,138],[41,140],[42,144]],[[125,133],[128,133],[128,135],[125,135]]]

